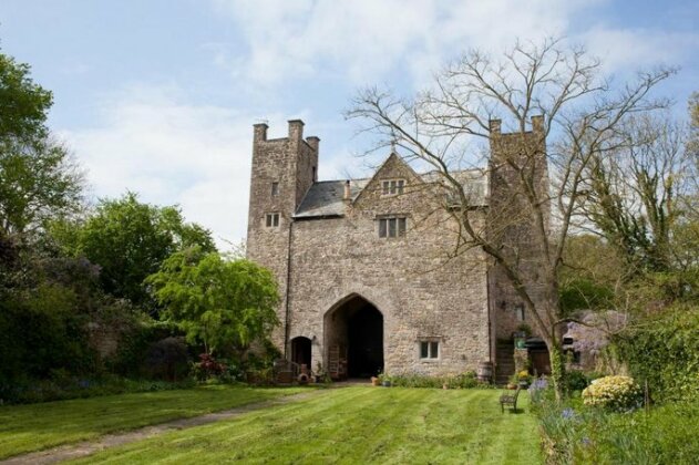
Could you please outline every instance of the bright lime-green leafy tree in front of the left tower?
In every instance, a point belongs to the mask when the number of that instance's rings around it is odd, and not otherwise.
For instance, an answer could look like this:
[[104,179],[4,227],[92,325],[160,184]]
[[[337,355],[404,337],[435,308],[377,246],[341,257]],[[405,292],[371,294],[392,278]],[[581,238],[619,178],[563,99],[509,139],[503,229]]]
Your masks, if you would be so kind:
[[226,260],[195,247],[174,254],[147,282],[191,342],[207,353],[245,353],[278,324],[277,283],[271,272],[245,259]]

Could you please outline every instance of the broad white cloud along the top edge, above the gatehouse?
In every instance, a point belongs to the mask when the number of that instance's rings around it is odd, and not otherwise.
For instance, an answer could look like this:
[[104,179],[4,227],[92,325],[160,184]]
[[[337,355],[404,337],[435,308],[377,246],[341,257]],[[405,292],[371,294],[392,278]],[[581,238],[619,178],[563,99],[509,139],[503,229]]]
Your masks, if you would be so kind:
[[[570,16],[594,2],[557,0],[213,0],[248,46],[239,76],[278,84],[322,72],[366,83],[397,66],[422,82],[470,46],[498,50],[514,38],[561,34]],[[220,54],[217,55],[220,61]]]

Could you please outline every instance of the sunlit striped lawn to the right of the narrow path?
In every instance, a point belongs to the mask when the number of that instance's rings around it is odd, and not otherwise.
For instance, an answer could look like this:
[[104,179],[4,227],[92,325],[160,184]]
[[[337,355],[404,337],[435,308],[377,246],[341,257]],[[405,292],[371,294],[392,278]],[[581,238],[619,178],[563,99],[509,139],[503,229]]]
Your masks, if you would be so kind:
[[[542,463],[535,416],[502,414],[498,395],[493,390],[329,390],[80,462]],[[526,394],[520,399],[527,409]]]

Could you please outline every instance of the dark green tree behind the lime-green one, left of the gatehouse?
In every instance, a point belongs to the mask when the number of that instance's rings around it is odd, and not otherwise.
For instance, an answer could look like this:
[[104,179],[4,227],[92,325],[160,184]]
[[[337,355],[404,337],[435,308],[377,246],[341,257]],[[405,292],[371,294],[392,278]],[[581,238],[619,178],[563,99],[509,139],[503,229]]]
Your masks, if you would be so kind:
[[82,225],[58,223],[51,232],[69,255],[84,256],[100,267],[104,291],[154,311],[144,279],[177,250],[216,247],[210,232],[184,221],[177,207],[141,203],[134,193],[103,199]]

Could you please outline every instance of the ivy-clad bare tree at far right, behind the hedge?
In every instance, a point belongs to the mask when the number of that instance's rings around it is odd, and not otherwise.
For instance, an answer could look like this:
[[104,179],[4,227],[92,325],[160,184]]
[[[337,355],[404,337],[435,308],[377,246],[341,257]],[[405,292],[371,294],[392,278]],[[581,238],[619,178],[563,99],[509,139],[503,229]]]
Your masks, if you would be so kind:
[[588,166],[585,218],[619,250],[629,276],[678,265],[672,231],[695,174],[685,143],[683,127],[669,114],[629,117],[614,149],[596,154]]

